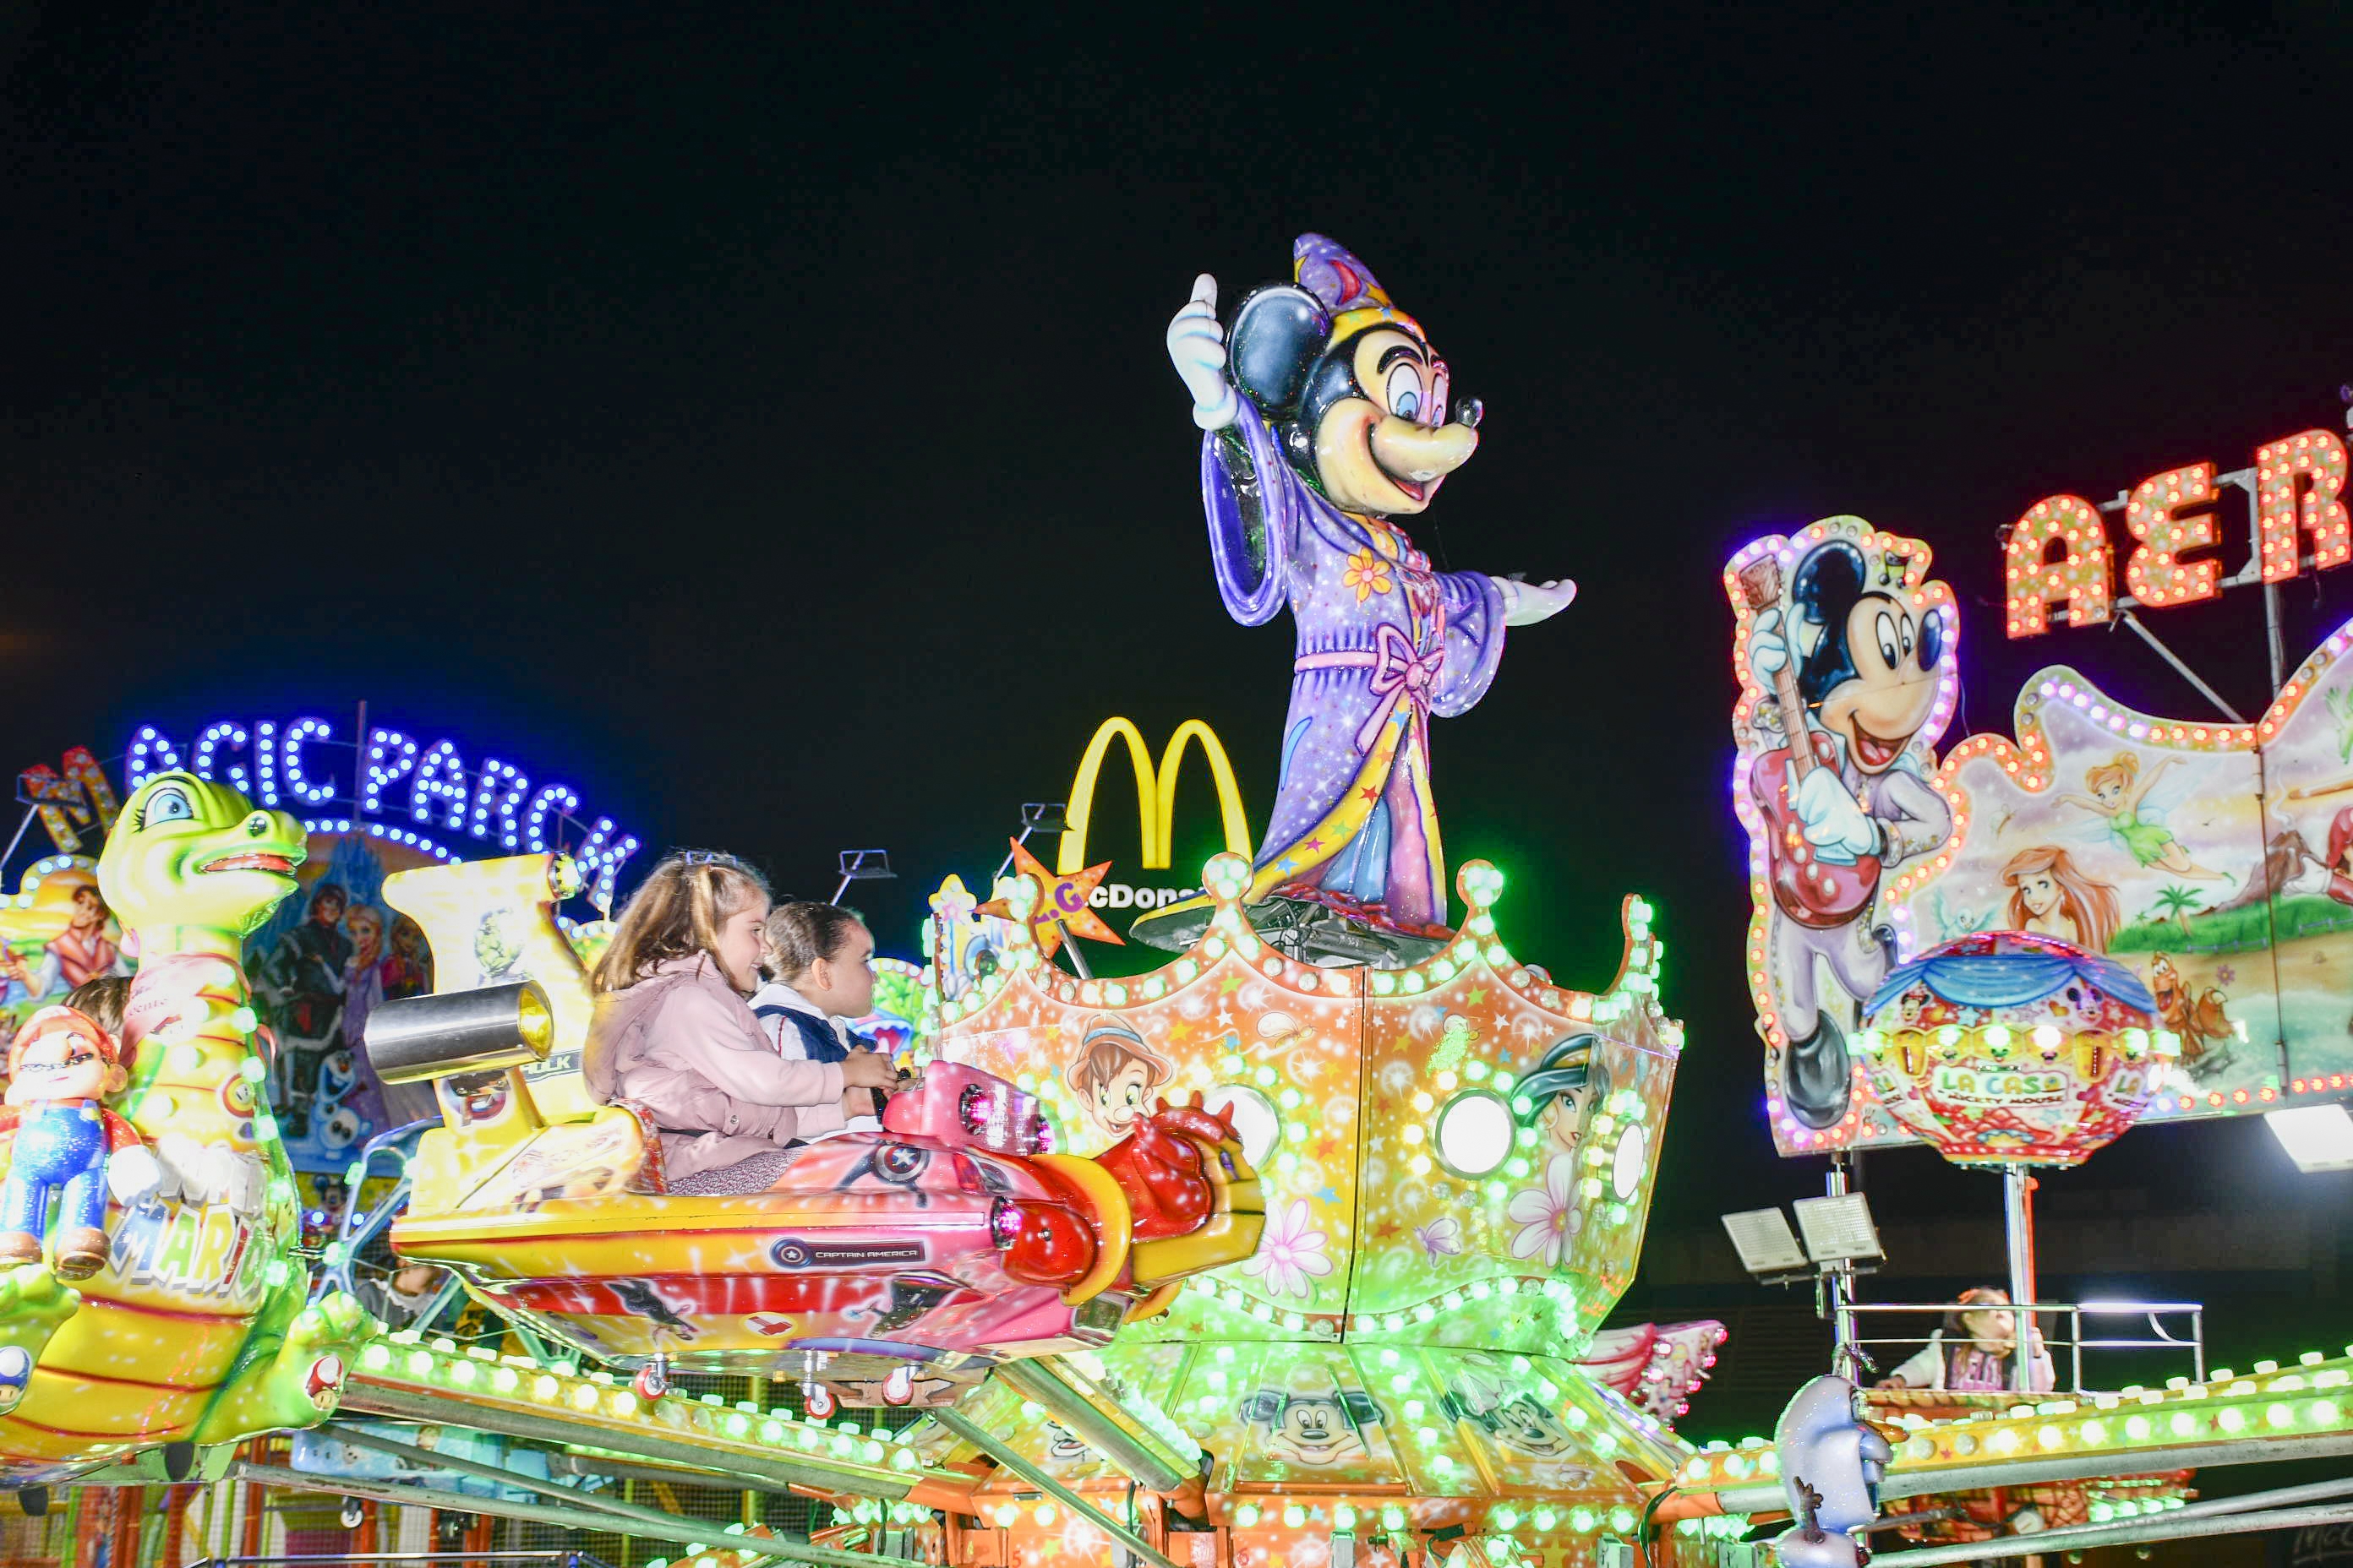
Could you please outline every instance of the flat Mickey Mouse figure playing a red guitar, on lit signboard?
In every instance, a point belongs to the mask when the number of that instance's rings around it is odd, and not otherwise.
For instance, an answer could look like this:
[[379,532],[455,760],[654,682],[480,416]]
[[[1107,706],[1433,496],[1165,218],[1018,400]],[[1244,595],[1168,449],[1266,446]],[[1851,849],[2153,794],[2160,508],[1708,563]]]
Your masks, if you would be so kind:
[[1781,1098],[1814,1128],[1838,1126],[1854,1081],[1817,969],[1849,1001],[1868,997],[1894,961],[1894,933],[1873,919],[1880,879],[1953,835],[1953,809],[1922,776],[1927,741],[1913,745],[1937,712],[1948,625],[1937,607],[1906,604],[1906,564],[1833,536],[1798,559],[1786,592],[1777,557],[1741,569],[1748,668],[1772,682],[1781,726],[1748,773],[1784,985]]

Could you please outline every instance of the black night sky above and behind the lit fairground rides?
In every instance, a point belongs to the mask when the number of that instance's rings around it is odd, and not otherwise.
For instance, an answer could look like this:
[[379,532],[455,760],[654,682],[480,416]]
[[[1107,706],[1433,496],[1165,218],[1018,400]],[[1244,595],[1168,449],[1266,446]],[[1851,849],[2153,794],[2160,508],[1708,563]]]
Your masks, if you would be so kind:
[[[2002,646],[1995,529],[2242,465],[2353,381],[2322,5],[826,9],[9,12],[9,766],[365,698],[788,891],[889,846],[901,952],[1104,715],[1207,717],[1264,823],[1289,628],[1219,607],[1160,339],[1195,273],[1231,301],[1325,230],[1487,404],[1417,538],[1584,585],[1438,726],[1447,851],[1569,983],[1661,905],[1659,1204],[1704,1222],[1819,1182],[1755,1112],[1725,555],[1932,541],[1955,738],[2045,661],[2200,715],[2122,635]],[[2353,571],[2287,599],[2301,658]],[[2259,595],[2151,623],[2264,701]],[[2191,1168],[2322,1192],[2254,1124],[2068,1180]]]

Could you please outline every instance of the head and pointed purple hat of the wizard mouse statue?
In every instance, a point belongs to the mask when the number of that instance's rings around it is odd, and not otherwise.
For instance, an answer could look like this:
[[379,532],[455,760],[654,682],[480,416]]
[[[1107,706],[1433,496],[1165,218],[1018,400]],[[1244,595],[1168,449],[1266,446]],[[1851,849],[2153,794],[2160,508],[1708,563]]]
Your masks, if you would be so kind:
[[1235,386],[1334,505],[1421,512],[1478,449],[1478,400],[1449,414],[1447,362],[1346,249],[1299,235],[1292,268],[1297,282],[1254,289],[1235,310]]

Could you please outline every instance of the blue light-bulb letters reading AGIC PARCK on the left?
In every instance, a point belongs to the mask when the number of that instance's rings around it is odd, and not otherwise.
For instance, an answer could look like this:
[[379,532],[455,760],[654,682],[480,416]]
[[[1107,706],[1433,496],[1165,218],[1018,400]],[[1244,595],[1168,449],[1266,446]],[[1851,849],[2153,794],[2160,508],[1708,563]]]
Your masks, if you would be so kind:
[[[318,752],[341,752],[341,766]],[[527,773],[499,757],[468,769],[454,741],[419,745],[398,729],[369,729],[360,757],[360,748],[334,738],[327,719],[214,719],[195,731],[186,752],[141,724],[122,759],[129,788],[174,769],[294,811],[308,832],[367,832],[440,860],[482,853],[447,835],[464,835],[492,853],[558,849],[579,860],[591,898],[605,907],[621,863],[638,853],[635,835],[621,832],[609,816],[588,818],[572,785],[532,788]],[[567,835],[567,823],[576,832]]]

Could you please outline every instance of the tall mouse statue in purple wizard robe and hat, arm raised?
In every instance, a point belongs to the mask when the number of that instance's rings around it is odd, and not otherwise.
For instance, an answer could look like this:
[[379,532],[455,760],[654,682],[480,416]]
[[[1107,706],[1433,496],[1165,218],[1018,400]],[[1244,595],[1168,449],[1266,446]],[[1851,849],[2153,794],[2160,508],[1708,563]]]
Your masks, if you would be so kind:
[[[1301,957],[1395,961],[1447,936],[1428,719],[1485,696],[1506,625],[1567,609],[1577,583],[1431,571],[1391,517],[1428,508],[1478,449],[1480,404],[1447,409],[1447,364],[1372,270],[1322,235],[1297,282],[1252,289],[1228,331],[1202,275],[1169,360],[1202,428],[1200,487],[1226,609],[1299,628],[1275,811],[1247,903]],[[1207,900],[1132,933],[1184,947]]]

